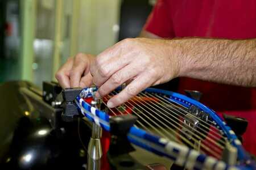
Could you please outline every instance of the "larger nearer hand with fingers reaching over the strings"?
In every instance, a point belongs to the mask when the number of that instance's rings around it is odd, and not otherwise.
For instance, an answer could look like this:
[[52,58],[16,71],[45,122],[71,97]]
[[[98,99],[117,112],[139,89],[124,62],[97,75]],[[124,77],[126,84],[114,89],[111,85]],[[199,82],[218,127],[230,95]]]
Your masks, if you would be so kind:
[[125,39],[99,54],[90,72],[98,86],[96,97],[108,95],[122,83],[130,83],[108,101],[112,108],[149,86],[168,82],[179,74],[179,59],[170,40]]

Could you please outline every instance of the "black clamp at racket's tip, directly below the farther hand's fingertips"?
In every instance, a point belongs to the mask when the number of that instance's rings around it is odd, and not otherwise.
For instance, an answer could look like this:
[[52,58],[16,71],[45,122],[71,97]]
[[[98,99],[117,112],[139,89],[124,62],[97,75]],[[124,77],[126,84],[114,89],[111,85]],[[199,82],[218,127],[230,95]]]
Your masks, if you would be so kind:
[[75,99],[81,91],[82,88],[65,88],[62,91],[63,114],[61,115],[61,117],[63,118],[63,121],[71,122],[79,116],[79,111],[77,109]]

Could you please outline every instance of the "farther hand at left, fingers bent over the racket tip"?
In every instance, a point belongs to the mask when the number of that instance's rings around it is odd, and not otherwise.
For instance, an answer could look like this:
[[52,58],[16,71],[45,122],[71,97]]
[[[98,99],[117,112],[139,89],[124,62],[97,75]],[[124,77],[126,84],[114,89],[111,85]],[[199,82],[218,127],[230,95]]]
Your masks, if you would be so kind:
[[68,58],[67,62],[55,74],[60,86],[62,88],[91,86],[90,64],[94,58],[93,55],[83,53]]

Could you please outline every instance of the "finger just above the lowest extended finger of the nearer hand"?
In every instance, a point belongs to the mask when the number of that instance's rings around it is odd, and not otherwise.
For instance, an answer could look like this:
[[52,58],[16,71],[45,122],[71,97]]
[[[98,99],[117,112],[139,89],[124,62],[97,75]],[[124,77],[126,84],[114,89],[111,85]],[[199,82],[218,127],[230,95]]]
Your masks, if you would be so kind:
[[115,90],[115,88],[127,82],[127,80],[130,80],[141,73],[141,70],[140,66],[133,63],[123,67],[123,69],[110,76],[110,78],[98,88],[98,91],[95,94],[96,97],[108,95]]

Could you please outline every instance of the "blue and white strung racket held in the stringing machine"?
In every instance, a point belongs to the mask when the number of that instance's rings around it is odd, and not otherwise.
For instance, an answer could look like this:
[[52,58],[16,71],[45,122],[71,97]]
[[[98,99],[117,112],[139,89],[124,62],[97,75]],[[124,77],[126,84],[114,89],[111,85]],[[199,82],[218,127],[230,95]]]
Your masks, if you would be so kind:
[[96,91],[97,87],[84,88],[75,102],[89,121],[105,131],[110,131],[110,117],[134,114],[138,120],[127,135],[129,141],[177,165],[187,169],[256,169],[234,131],[199,101],[147,88],[110,109],[106,103],[121,88],[94,101]]

